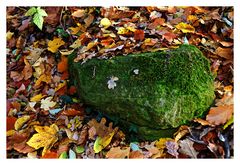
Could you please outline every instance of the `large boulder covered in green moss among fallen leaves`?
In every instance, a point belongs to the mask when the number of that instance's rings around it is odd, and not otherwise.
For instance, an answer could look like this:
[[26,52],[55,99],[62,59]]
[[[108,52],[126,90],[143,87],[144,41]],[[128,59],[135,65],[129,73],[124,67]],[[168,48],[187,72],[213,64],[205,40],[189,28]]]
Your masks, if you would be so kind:
[[75,56],[69,57],[69,72],[81,101],[133,124],[140,139],[170,136],[170,130],[202,117],[215,97],[209,61],[195,46],[83,64],[73,62]]

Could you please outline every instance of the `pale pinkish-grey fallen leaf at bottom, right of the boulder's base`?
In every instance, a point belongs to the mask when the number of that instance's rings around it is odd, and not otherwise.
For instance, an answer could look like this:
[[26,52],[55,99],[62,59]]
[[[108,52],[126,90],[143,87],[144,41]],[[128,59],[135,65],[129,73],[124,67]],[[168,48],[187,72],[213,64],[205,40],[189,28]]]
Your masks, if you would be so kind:
[[198,152],[193,148],[193,142],[189,139],[181,140],[179,152],[190,156],[191,158],[197,158]]

